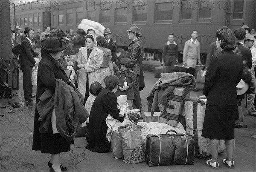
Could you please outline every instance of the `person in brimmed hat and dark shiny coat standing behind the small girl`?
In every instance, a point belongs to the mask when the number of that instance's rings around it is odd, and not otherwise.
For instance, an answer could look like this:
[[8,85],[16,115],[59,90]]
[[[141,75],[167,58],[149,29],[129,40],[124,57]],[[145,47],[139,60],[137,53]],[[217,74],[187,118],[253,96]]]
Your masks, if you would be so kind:
[[141,109],[139,87],[142,89],[145,87],[143,71],[140,67],[140,62],[143,58],[143,42],[140,40],[140,36],[142,36],[142,34],[140,32],[140,28],[134,24],[130,27],[130,29],[127,30],[127,32],[131,43],[128,47],[128,53],[126,57],[129,58],[133,71],[137,74],[138,77],[137,86],[134,88],[134,106],[138,109]]

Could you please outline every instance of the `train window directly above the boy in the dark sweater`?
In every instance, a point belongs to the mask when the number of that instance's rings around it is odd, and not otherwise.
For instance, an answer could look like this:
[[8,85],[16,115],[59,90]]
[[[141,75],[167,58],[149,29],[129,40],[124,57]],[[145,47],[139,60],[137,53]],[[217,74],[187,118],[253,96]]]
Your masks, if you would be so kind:
[[172,20],[172,2],[155,4],[155,20]]

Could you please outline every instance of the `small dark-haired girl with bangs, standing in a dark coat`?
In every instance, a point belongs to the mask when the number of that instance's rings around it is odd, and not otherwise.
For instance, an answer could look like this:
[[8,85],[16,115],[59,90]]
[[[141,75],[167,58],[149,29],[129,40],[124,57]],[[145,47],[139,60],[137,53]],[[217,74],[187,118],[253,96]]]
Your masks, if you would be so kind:
[[116,97],[119,95],[127,95],[127,103],[130,109],[133,109],[134,86],[137,85],[136,73],[132,71],[131,63],[128,58],[122,58],[119,62],[119,71],[115,75],[119,78],[119,88],[116,91]]

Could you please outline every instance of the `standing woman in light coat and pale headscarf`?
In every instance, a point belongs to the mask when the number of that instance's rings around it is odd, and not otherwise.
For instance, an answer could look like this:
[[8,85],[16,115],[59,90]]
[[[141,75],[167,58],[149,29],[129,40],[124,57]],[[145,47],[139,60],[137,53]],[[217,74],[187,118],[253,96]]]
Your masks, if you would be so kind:
[[85,47],[79,49],[77,66],[78,89],[84,95],[84,104],[89,97],[89,86],[94,82],[99,82],[99,68],[102,65],[103,52],[97,47],[97,40],[93,34],[85,36]]

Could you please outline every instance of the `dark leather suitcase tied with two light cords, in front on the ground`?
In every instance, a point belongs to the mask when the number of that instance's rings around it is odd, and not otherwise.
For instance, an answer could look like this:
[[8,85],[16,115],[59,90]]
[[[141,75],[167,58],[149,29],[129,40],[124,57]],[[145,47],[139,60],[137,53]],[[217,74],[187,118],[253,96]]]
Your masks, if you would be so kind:
[[194,143],[192,135],[178,134],[172,129],[165,135],[147,135],[146,163],[148,166],[194,164]]

